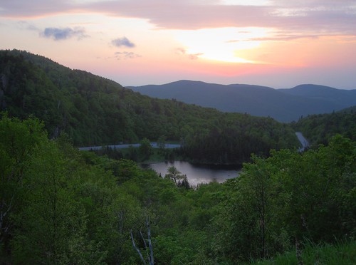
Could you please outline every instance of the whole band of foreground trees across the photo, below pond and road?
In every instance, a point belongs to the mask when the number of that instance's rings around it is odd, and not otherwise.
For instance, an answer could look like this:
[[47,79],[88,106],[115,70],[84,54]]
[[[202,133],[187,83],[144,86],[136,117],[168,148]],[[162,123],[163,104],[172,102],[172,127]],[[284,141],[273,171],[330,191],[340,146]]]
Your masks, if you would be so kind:
[[0,120],[1,263],[140,264],[138,251],[148,263],[152,249],[156,264],[239,264],[354,242],[356,142],[346,137],[254,156],[240,177],[189,189],[43,128]]

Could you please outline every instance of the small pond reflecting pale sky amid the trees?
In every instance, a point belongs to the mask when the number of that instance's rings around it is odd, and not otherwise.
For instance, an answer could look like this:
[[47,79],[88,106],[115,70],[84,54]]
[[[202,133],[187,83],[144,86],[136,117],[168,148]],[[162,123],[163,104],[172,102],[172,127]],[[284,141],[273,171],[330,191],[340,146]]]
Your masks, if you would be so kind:
[[176,167],[183,175],[187,175],[190,185],[197,186],[200,183],[219,182],[233,177],[238,177],[241,168],[237,165],[195,165],[184,161],[158,162],[152,164],[142,164],[144,168],[151,168],[162,177],[167,174],[168,167]]

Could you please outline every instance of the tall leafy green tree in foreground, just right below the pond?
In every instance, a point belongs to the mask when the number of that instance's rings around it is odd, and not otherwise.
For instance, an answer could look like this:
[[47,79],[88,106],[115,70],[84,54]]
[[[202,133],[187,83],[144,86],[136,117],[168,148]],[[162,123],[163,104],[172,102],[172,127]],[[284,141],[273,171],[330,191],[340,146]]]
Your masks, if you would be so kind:
[[253,163],[244,164],[243,173],[226,185],[229,199],[222,204],[219,217],[214,217],[217,249],[236,263],[264,258],[271,249],[271,166],[255,156]]

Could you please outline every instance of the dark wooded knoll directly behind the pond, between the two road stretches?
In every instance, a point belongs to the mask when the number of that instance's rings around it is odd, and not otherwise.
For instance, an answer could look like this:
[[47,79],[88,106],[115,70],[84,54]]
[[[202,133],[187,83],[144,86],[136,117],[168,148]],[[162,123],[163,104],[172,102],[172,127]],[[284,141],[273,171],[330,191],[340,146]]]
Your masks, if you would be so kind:
[[299,145],[289,125],[272,118],[235,115],[239,118],[225,114],[209,126],[191,128],[184,137],[183,157],[192,162],[242,165],[251,153],[267,156],[271,149]]

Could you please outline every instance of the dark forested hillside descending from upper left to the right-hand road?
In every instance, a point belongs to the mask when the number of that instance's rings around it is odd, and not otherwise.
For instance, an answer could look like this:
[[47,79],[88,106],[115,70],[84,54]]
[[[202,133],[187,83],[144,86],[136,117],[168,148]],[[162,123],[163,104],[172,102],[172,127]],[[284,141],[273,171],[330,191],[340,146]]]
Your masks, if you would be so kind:
[[149,98],[25,51],[0,51],[0,74],[0,110],[21,119],[34,115],[50,137],[65,132],[75,146],[164,137],[182,142],[187,159],[214,163],[298,146],[293,130],[271,118]]

